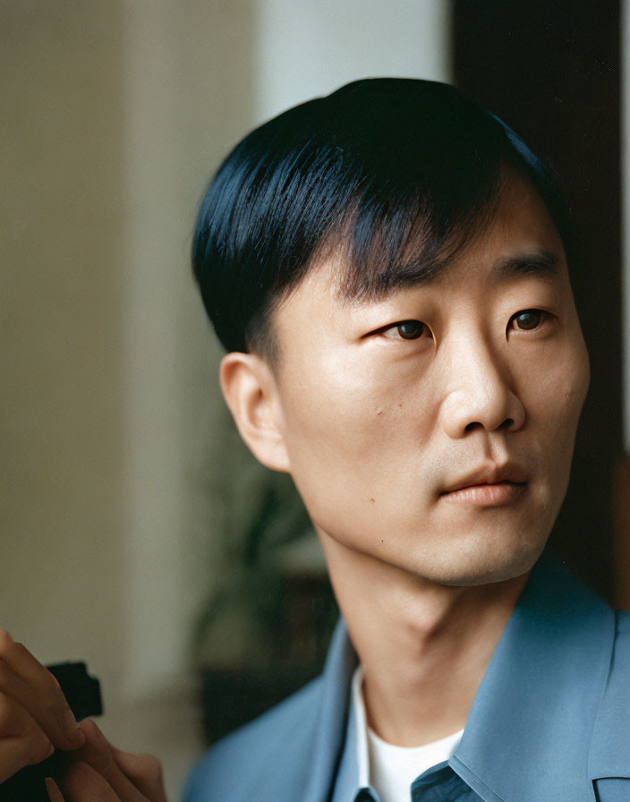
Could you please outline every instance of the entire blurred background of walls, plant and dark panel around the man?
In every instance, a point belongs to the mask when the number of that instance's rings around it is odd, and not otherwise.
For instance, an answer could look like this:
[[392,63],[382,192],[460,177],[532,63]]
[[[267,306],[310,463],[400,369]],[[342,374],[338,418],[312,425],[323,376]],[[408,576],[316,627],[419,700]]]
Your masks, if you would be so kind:
[[0,626],[88,661],[171,799],[335,617],[290,482],[220,397],[193,219],[245,132],[347,81],[453,82],[557,168],[592,388],[553,539],[630,607],[629,35],[614,0],[0,0]]

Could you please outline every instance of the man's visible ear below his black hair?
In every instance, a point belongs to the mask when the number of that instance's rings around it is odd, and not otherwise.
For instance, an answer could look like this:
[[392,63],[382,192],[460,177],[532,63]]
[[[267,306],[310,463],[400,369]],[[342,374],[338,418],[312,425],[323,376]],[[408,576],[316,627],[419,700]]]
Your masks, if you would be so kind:
[[221,360],[221,391],[251,453],[274,471],[289,473],[282,405],[268,364],[256,354],[232,351]]

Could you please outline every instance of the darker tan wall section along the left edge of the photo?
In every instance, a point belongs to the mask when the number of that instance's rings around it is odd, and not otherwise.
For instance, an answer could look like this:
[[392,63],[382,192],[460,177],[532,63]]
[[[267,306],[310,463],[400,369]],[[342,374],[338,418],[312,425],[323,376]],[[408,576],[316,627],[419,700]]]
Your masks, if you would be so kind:
[[[127,661],[122,17],[0,6],[3,626]],[[8,81],[7,81],[8,76]],[[123,644],[123,648],[121,648]]]

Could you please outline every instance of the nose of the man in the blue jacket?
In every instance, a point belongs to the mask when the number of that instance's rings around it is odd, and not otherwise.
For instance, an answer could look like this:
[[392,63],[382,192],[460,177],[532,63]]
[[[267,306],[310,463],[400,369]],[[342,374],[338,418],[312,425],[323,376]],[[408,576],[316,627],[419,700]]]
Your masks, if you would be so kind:
[[523,402],[507,365],[480,340],[454,346],[447,359],[447,394],[441,416],[451,438],[474,430],[516,431],[525,421]]

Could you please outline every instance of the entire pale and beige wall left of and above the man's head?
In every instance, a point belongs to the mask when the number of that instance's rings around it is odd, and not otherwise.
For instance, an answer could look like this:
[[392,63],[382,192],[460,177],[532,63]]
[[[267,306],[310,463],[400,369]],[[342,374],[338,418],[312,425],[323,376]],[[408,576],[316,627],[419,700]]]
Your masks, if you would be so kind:
[[86,659],[108,735],[164,758],[173,799],[200,749],[188,637],[220,569],[226,425],[197,202],[280,108],[367,74],[446,77],[446,11],[0,0],[0,626]]

